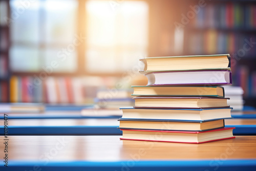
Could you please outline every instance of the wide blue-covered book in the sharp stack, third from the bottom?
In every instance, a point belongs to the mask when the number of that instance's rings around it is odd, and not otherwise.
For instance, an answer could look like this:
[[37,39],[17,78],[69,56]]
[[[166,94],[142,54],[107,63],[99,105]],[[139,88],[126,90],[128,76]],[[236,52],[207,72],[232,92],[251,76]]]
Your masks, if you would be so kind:
[[231,118],[232,108],[211,109],[153,109],[153,108],[120,108],[125,119],[168,119],[206,121],[211,119]]

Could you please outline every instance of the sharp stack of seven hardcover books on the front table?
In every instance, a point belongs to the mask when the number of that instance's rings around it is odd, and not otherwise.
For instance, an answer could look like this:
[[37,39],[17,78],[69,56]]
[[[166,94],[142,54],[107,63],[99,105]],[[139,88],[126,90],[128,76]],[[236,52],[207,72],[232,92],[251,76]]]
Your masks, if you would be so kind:
[[231,84],[230,56],[141,59],[147,86],[133,86],[135,106],[120,108],[123,140],[203,143],[234,138],[223,87]]

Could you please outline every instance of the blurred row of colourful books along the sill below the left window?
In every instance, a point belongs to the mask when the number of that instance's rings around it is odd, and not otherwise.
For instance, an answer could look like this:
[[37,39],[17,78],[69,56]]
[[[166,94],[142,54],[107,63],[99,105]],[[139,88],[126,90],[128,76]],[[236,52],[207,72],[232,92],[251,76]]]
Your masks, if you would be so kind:
[[[81,103],[93,102],[98,87],[76,87],[70,77],[49,77],[44,81],[32,76],[12,76],[10,78],[10,96],[5,102],[46,102],[46,103]],[[6,82],[8,89],[8,83]],[[8,92],[8,91],[6,91]],[[62,95],[66,94],[65,97]],[[79,96],[79,97],[77,97]]]

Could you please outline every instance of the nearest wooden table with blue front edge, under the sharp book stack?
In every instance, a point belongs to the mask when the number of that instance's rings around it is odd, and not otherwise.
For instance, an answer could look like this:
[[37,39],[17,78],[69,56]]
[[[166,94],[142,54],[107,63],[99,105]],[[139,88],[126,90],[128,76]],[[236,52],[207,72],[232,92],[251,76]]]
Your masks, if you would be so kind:
[[[256,136],[203,144],[119,140],[120,137],[9,136],[6,170],[256,169]],[[1,137],[1,160],[5,155],[3,142]]]

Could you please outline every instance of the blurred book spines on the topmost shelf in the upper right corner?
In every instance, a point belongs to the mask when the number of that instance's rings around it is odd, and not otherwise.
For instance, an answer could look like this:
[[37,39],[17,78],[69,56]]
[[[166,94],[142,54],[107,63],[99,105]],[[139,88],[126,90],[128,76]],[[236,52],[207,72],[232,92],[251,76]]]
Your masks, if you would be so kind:
[[196,16],[194,25],[197,28],[256,28],[255,4],[209,4],[200,8]]

